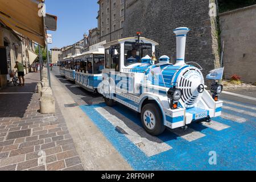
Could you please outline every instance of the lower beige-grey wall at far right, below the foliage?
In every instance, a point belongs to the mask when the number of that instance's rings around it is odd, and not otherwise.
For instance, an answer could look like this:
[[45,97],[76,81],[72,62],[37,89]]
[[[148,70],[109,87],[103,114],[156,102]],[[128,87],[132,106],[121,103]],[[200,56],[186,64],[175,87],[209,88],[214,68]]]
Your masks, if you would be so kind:
[[220,14],[225,78],[256,82],[256,5]]

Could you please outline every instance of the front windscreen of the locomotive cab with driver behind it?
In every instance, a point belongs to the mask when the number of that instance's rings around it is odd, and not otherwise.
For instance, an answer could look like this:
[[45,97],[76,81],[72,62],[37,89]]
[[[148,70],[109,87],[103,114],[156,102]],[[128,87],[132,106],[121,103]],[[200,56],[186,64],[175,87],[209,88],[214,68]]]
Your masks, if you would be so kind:
[[144,56],[152,56],[152,44],[125,42],[125,66],[141,63]]

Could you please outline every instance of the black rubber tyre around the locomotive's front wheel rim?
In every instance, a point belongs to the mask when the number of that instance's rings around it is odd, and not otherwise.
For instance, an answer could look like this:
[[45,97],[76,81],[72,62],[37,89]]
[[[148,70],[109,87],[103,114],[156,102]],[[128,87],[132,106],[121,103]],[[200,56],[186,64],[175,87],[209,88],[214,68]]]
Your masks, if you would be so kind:
[[[156,126],[153,130],[148,129],[146,127],[146,125],[144,124],[143,114],[144,114],[144,111],[146,111],[146,110],[150,110],[155,115]],[[166,126],[164,126],[164,122],[163,122],[162,112],[160,111],[160,108],[157,104],[150,103],[150,104],[146,104],[143,106],[142,111],[141,111],[141,122],[142,122],[144,129],[147,131],[147,133],[150,135],[153,135],[153,136],[160,135],[164,132],[164,130],[166,130]]]

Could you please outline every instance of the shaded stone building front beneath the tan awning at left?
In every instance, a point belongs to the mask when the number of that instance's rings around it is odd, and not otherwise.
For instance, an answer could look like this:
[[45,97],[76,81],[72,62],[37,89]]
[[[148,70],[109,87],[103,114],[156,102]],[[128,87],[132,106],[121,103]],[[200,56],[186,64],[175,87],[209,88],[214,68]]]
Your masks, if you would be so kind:
[[[34,43],[18,32],[13,31],[5,24],[0,23],[0,89],[7,85],[9,74],[15,71],[15,62],[19,61],[26,65],[24,73],[27,74],[29,67],[36,59]],[[4,54],[4,55],[3,55]],[[6,56],[5,56],[6,54]],[[6,59],[7,57],[7,59]]]

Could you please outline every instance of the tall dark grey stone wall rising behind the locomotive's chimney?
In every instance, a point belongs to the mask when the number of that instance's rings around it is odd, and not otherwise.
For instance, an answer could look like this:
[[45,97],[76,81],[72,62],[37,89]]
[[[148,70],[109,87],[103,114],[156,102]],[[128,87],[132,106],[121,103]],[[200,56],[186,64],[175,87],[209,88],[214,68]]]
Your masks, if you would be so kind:
[[[220,66],[218,40],[213,26],[215,18],[209,16],[212,0],[126,0],[126,19],[123,36],[142,36],[155,40],[160,45],[160,55],[176,59],[176,38],[173,30],[188,27],[185,59],[195,61],[203,67],[204,75]],[[216,36],[217,37],[217,36]]]

